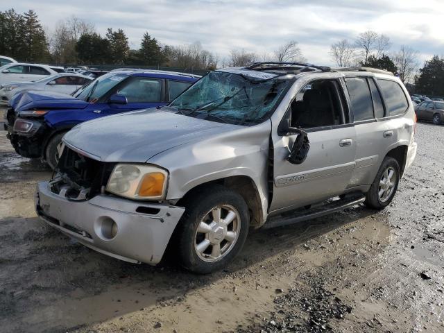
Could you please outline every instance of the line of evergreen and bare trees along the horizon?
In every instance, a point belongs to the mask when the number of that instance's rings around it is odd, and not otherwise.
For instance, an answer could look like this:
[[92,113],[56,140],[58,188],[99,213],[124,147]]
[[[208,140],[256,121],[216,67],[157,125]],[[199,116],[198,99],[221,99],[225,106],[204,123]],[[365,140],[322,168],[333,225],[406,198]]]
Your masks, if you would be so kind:
[[[434,56],[420,68],[420,53],[409,46],[391,50],[388,36],[375,31],[360,33],[354,40],[340,40],[330,47],[330,56],[341,67],[374,67],[397,74],[404,83],[416,83],[416,91],[444,95],[444,60]],[[94,24],[75,16],[57,22],[45,31],[33,10],[0,11],[0,54],[24,62],[84,65],[133,65],[215,69],[248,66],[258,61],[305,62],[298,42],[291,40],[262,54],[232,49],[221,62],[200,42],[162,44],[148,31],[138,49],[130,49],[126,33],[108,28],[105,35]]]

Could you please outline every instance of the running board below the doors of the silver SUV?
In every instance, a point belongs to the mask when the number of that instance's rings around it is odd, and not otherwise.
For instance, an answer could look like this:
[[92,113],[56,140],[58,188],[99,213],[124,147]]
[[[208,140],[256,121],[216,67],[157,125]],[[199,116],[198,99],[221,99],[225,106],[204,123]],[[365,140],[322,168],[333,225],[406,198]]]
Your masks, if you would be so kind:
[[299,208],[294,210],[294,214],[290,212],[285,212],[285,216],[282,214],[271,217],[262,228],[269,229],[275,227],[282,227],[283,225],[290,225],[293,223],[298,223],[302,221],[307,221],[311,219],[316,219],[324,215],[332,214],[334,212],[339,212],[345,210],[345,208],[358,205],[359,203],[364,203],[366,200],[365,196],[352,196],[350,198],[344,198],[326,203],[325,205],[320,205],[309,210],[304,210]]

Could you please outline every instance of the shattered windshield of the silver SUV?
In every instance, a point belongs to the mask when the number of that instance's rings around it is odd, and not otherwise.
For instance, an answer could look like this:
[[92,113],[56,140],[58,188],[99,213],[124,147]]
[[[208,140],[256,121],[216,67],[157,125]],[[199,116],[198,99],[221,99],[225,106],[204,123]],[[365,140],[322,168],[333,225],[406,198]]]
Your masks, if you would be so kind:
[[189,117],[251,126],[273,112],[288,85],[289,80],[279,76],[264,79],[212,71],[169,107]]

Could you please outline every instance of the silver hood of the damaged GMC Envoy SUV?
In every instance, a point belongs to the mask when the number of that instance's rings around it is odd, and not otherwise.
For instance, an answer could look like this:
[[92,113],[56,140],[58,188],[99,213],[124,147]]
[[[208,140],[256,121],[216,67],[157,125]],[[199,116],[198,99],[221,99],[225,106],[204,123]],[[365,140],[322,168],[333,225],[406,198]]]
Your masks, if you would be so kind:
[[63,141],[103,162],[147,162],[170,148],[243,126],[217,123],[155,108],[80,123]]

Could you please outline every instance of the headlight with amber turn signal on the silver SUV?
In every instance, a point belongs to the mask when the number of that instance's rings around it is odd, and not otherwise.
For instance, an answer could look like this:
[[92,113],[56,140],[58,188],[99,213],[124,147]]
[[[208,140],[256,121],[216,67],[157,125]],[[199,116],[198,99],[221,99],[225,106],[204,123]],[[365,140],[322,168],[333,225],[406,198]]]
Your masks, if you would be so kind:
[[117,164],[112,170],[106,190],[126,198],[164,199],[167,171],[144,164]]

